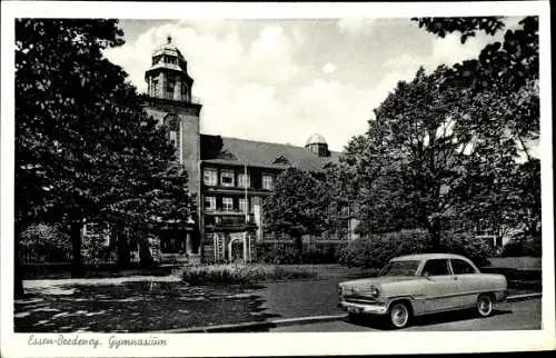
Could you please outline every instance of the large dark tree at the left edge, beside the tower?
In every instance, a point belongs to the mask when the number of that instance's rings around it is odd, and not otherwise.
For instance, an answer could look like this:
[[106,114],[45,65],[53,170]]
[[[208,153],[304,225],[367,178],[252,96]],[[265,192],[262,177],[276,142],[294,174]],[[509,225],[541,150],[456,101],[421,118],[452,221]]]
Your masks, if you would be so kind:
[[16,238],[32,222],[63,223],[73,276],[82,275],[83,220],[155,190],[175,159],[126,73],[102,57],[121,36],[117,20],[16,22]]

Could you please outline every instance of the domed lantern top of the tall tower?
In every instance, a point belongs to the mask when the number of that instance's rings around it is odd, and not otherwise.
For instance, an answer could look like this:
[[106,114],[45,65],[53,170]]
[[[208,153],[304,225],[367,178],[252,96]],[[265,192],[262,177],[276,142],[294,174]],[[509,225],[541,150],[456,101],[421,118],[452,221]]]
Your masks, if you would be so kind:
[[180,50],[167,42],[152,51],[151,67],[145,72],[148,93],[152,98],[175,101],[191,101],[191,86],[193,79],[187,73],[187,61]]

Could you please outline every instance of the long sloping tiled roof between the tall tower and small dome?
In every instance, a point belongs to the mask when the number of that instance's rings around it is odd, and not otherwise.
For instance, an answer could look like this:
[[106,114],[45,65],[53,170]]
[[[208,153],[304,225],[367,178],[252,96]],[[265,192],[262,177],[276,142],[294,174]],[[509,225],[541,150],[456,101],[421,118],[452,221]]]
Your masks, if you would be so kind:
[[219,165],[246,163],[250,167],[286,169],[296,167],[308,171],[324,171],[325,166],[338,161],[338,152],[318,157],[304,147],[254,141],[238,138],[201,135],[201,160]]

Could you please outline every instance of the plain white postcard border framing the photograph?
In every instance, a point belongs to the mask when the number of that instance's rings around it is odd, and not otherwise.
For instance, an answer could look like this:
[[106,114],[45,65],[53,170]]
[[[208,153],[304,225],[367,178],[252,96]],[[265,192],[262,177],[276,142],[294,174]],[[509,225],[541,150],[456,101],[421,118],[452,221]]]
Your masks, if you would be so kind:
[[[2,120],[1,120],[1,354],[6,357],[99,356],[284,356],[524,351],[555,348],[554,227],[552,158],[550,13],[548,1],[435,2],[435,3],[130,3],[130,2],[6,2],[2,10]],[[409,18],[424,16],[540,17],[540,158],[543,186],[543,330],[465,332],[349,332],[349,334],[192,334],[166,335],[168,346],[108,348],[111,335],[80,334],[100,338],[95,349],[28,346],[27,334],[13,334],[13,19],[43,18]],[[58,335],[40,335],[53,337]],[[69,336],[69,335],[67,335]],[[149,335],[116,335],[118,338]]]

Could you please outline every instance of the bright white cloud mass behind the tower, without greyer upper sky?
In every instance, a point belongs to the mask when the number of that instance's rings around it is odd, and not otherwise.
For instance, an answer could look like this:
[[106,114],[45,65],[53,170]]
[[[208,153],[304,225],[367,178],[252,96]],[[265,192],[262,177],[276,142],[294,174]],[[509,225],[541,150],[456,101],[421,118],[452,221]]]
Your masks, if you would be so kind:
[[[373,19],[351,18],[340,19],[332,29],[336,34],[361,34],[371,33],[374,27]],[[261,24],[247,36],[246,31],[239,21],[175,21],[107,50],[106,57],[123,67],[130,81],[145,91],[151,51],[171,36],[195,79],[193,96],[203,105],[202,133],[304,146],[311,133],[319,132],[332,150],[341,150],[351,136],[366,131],[373,109],[399,80],[410,80],[420,64],[430,70],[476,56],[483,47],[475,39],[461,47],[458,38],[431,37],[429,54],[408,52],[384,63],[373,62],[374,53],[354,52],[378,70],[375,81],[364,82],[347,62],[341,62],[345,77],[326,76],[337,69],[327,60],[339,63],[329,52],[299,58],[300,48],[310,49],[308,32],[299,27]],[[315,71],[315,63],[326,64]]]

